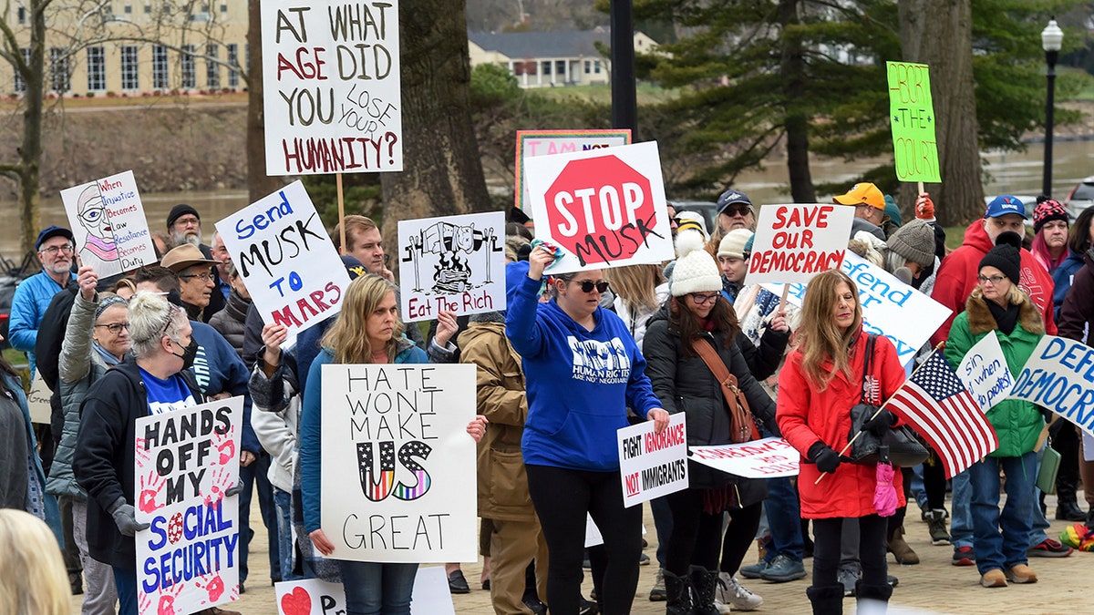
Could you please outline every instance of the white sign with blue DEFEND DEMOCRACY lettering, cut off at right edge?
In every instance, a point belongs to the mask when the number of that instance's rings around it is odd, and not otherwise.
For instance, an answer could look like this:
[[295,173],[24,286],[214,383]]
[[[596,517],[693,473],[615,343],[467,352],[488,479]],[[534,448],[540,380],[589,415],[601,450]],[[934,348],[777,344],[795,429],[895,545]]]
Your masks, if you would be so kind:
[[1044,406],[1094,434],[1094,348],[1046,335],[1008,395]]

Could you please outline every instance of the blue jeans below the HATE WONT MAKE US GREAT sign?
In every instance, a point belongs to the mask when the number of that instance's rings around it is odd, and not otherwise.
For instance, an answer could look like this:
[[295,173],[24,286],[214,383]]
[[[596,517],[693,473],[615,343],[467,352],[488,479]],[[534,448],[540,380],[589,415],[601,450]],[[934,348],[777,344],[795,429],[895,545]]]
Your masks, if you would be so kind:
[[346,589],[346,615],[410,615],[417,564],[337,561]]

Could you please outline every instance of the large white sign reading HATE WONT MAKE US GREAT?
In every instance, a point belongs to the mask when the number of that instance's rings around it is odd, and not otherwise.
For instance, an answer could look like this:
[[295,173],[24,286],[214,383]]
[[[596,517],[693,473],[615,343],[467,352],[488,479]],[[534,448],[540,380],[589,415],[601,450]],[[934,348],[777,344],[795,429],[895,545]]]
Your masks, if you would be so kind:
[[476,450],[466,432],[475,370],[323,365],[322,525],[331,557],[475,559]]

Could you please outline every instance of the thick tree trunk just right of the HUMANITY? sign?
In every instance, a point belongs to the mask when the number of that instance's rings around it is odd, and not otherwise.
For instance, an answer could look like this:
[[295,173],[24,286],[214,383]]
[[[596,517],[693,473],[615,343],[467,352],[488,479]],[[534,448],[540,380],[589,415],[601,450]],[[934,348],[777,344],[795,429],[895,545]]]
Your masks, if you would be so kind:
[[401,173],[384,173],[385,250],[399,220],[490,209],[472,126],[465,0],[399,3]]

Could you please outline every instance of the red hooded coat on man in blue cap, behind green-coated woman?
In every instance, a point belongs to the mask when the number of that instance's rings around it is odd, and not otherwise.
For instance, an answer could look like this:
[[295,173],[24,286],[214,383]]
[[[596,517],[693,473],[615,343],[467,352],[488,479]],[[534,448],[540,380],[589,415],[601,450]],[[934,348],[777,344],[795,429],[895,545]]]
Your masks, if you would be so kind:
[[[954,317],[965,311],[965,302],[976,288],[976,277],[980,275],[980,259],[992,247],[994,246],[991,239],[984,230],[984,220],[974,220],[965,229],[965,241],[961,247],[942,259],[939,275],[934,278],[931,299],[953,310],[953,314],[931,336],[932,346],[945,341],[950,336],[950,326]],[[1037,258],[1029,251],[1022,248],[1019,288],[1033,299],[1034,305],[1045,321],[1045,333],[1048,335],[1056,335],[1056,322],[1052,320],[1055,286],[1048,270],[1037,263]]]

